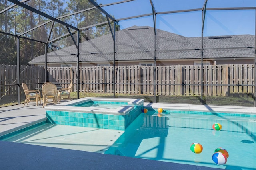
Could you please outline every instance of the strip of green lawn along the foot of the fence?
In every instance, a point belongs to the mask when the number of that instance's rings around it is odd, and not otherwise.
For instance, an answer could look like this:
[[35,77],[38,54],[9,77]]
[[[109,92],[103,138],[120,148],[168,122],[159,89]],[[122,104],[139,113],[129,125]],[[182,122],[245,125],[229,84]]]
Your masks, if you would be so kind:
[[[79,93],[80,98],[84,97],[105,97],[113,98],[113,94],[109,93]],[[71,98],[76,99],[76,92],[72,92]],[[116,98],[140,98],[145,102],[154,102],[154,96],[143,94],[116,94]],[[156,96],[156,102],[159,103],[181,103],[181,104],[201,104],[200,96]],[[22,102],[25,96],[21,96]],[[0,100],[0,107],[18,104],[17,96],[4,96]],[[226,106],[254,106],[254,98],[252,96],[236,95],[236,96],[204,96],[203,104],[206,105],[226,105]]]

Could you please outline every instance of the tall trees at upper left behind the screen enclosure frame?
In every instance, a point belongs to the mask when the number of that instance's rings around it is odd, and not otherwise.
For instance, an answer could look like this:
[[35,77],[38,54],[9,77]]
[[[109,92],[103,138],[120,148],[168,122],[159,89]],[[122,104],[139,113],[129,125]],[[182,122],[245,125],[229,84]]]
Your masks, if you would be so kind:
[[[8,7],[10,5],[9,3],[10,2],[8,0],[0,0],[0,10],[4,10]],[[35,0],[28,1],[26,4],[55,18],[94,7],[87,0],[52,0],[47,4],[44,0]],[[102,23],[106,21],[106,16],[102,14],[100,10],[95,8],[86,12],[61,18],[60,20],[70,25],[74,25],[75,27],[82,28],[96,23]],[[15,6],[14,8],[10,8],[8,11],[0,14],[0,21],[1,31],[20,35],[30,29],[33,29],[37,25],[45,23],[48,19],[20,6]],[[70,35],[67,34],[68,31],[65,25],[55,22],[51,34],[48,35],[50,30],[51,24],[49,23],[21,36],[45,42],[49,36],[50,39],[56,39],[60,36],[66,35],[57,42],[52,43],[55,45],[56,49],[61,49],[74,44]],[[81,37],[84,36],[86,40],[89,40],[108,33],[110,33],[108,24],[103,24],[96,27],[90,27],[86,31],[82,31],[80,35]],[[16,64],[16,37],[1,34],[0,40],[0,51],[2,51],[0,64]],[[42,46],[43,45],[41,43],[20,38],[20,64],[27,65],[33,57],[36,55],[42,55],[44,53]]]

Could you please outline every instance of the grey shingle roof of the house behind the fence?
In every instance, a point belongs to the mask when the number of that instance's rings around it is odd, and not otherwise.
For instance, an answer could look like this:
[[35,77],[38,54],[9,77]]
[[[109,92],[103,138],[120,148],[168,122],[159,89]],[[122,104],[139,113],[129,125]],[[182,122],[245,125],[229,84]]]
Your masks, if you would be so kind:
[[[254,35],[204,37],[204,58],[254,57],[254,48],[246,48],[254,47],[254,38]],[[184,37],[157,29],[156,43],[157,59],[201,58],[201,50],[198,50],[201,49],[201,37]],[[50,52],[47,56],[50,63],[76,62],[76,47],[72,45]],[[80,61],[112,61],[112,35],[80,43],[79,56]],[[133,26],[116,32],[117,61],[147,59],[154,59],[154,28]],[[30,63],[44,63],[44,55],[35,57]]]

